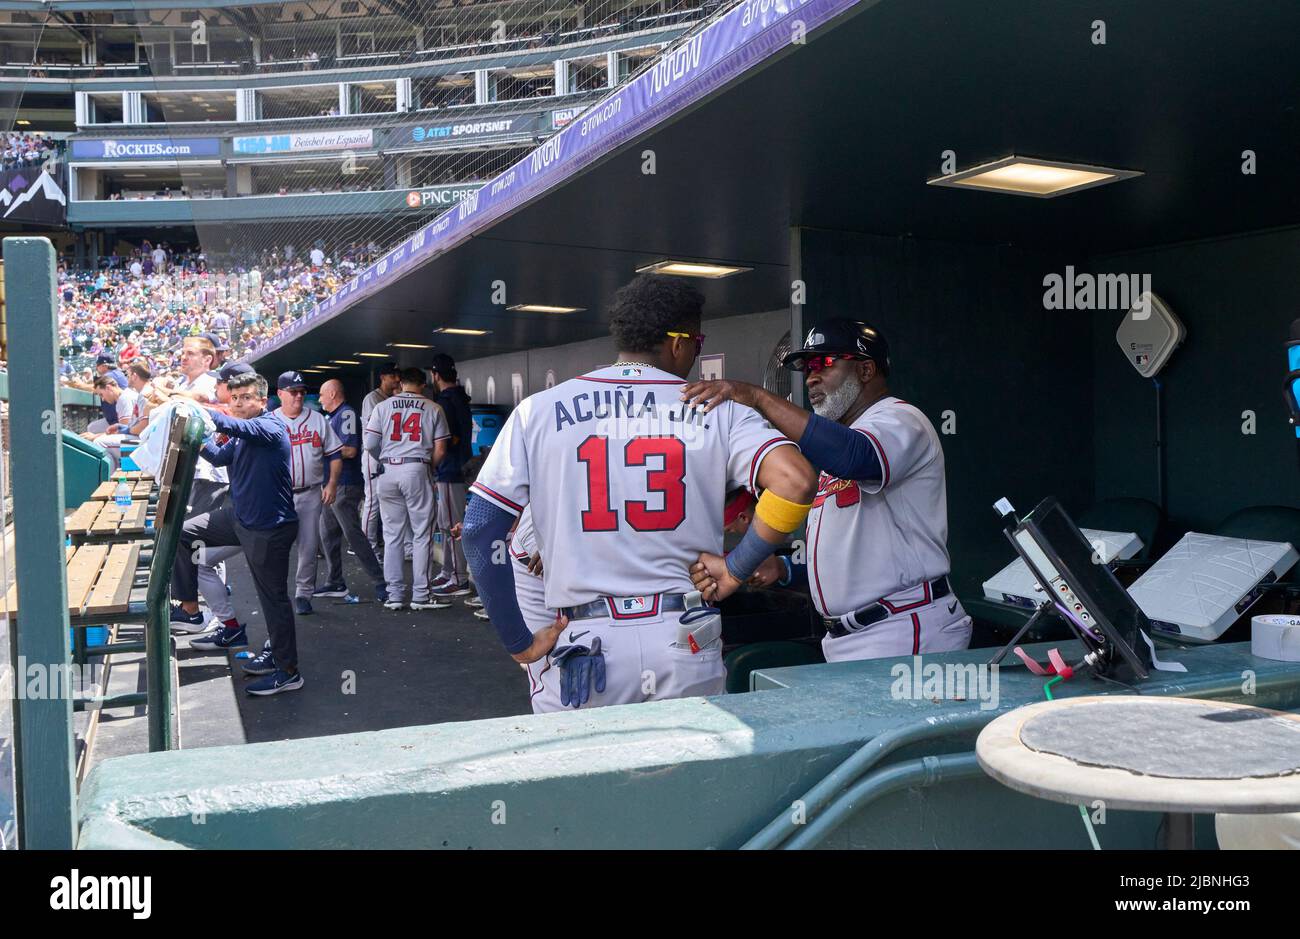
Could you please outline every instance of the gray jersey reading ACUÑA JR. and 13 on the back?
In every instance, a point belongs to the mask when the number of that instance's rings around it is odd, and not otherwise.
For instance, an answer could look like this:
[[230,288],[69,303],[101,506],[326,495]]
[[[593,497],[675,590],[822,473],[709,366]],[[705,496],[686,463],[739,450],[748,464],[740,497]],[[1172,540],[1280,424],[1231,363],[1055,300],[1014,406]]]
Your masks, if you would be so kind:
[[608,365],[506,421],[472,488],[512,515],[532,506],[547,607],[688,593],[699,553],[722,553],[727,492],[754,489],[767,454],[793,445],[734,402],[684,411],[684,384]]

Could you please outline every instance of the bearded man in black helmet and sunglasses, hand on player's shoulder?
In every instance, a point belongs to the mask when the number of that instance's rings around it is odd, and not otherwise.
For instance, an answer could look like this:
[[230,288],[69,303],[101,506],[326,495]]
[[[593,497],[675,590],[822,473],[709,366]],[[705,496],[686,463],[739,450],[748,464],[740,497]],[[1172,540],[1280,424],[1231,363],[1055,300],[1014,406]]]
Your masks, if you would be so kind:
[[[948,580],[944,451],[926,415],[889,393],[885,337],[828,320],[785,367],[805,373],[811,415],[742,381],[701,381],[682,395],[705,415],[724,402],[758,410],[822,468],[807,564],[772,559],[768,576],[786,585],[807,577],[827,662],[967,648],[971,619]],[[706,597],[727,567],[706,554],[692,568]]]

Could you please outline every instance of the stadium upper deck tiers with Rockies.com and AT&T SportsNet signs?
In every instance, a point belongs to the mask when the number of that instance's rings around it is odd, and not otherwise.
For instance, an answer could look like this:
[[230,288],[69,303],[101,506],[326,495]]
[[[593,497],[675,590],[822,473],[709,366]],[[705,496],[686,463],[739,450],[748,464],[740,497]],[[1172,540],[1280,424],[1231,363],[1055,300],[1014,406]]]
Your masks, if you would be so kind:
[[120,230],[426,220],[716,4],[124,7],[0,0],[0,96],[18,129],[74,131],[61,185],[88,263]]

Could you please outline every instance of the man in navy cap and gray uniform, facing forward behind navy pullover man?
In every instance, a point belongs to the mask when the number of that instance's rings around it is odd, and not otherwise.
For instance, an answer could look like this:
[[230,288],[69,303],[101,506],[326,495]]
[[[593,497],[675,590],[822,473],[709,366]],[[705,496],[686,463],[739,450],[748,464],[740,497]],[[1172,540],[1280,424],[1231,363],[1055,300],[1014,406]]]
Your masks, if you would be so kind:
[[298,514],[294,613],[309,616],[315,613],[312,594],[316,592],[316,555],[321,544],[321,510],[334,505],[338,477],[343,471],[343,462],[339,459],[343,443],[325,415],[303,407],[307,381],[299,372],[281,375],[276,380],[276,389],[280,393],[280,407],[270,414],[289,429],[289,468],[294,483],[294,511]]

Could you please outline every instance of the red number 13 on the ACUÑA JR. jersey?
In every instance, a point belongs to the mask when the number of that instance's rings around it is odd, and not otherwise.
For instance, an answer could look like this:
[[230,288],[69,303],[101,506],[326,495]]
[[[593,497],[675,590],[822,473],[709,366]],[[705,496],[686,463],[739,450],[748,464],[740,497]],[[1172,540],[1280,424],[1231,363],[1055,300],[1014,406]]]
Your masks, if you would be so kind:
[[[649,467],[659,456],[663,468],[646,469],[646,489],[663,494],[663,509],[649,502],[623,503],[623,515],[638,532],[671,532],[686,518],[686,446],[677,437],[633,437],[623,447],[625,467]],[[578,463],[586,464],[586,505],[584,532],[616,532],[619,512],[610,503],[610,438],[593,434],[577,449]]]

